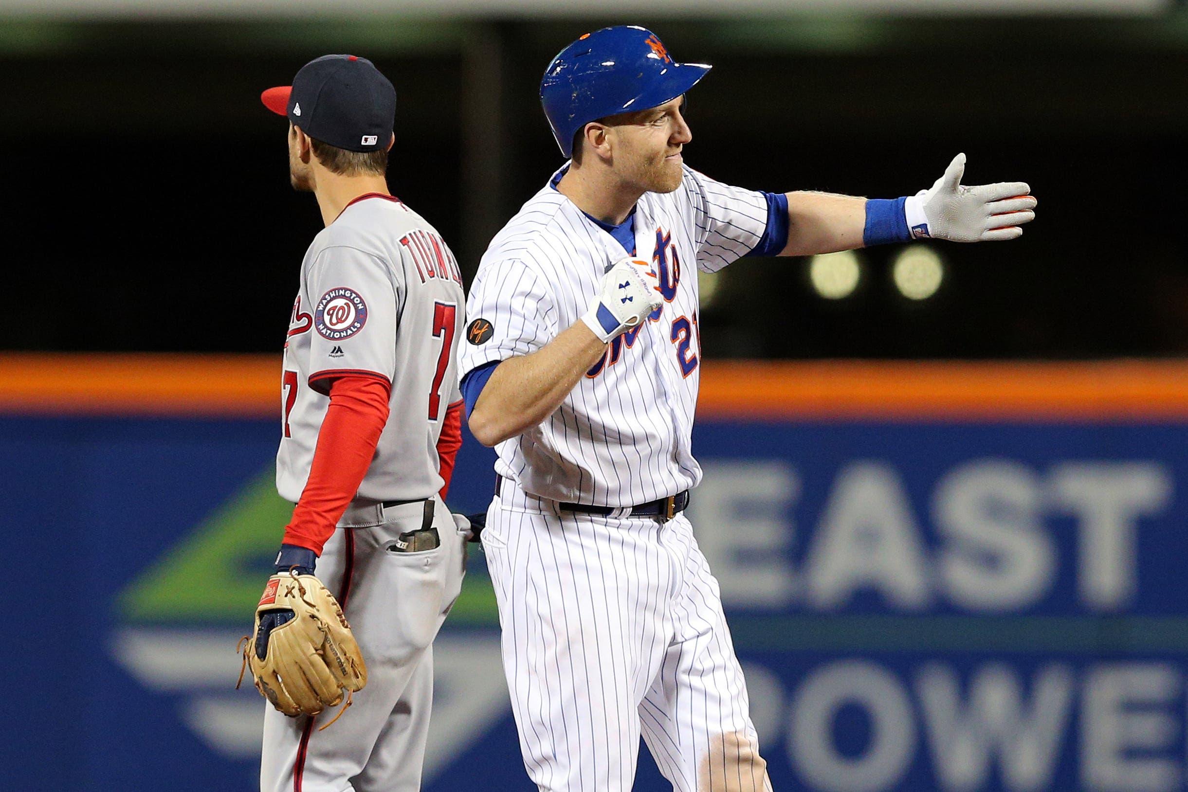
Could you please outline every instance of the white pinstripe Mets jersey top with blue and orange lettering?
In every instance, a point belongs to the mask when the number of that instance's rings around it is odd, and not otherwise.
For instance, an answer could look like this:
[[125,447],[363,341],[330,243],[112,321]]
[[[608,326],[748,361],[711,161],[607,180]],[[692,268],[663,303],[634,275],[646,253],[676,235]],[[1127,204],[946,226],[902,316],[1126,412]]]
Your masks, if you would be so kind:
[[[612,342],[544,423],[497,446],[495,470],[533,495],[623,507],[701,481],[690,449],[701,359],[697,278],[684,267],[715,272],[748,253],[766,229],[767,201],[684,167],[674,192],[639,198],[634,223],[636,258],[652,260],[665,303]],[[461,344],[461,373],[541,349],[586,312],[606,267],[624,256],[550,179],[482,256],[467,313],[489,321],[493,334]]]

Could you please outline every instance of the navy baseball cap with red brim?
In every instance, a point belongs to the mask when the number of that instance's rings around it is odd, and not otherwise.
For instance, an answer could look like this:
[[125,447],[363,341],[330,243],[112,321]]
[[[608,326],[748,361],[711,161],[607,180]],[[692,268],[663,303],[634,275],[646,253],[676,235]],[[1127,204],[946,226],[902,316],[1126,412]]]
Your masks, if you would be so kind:
[[392,140],[396,89],[367,58],[323,55],[301,68],[292,85],[260,94],[310,138],[347,151],[383,151]]

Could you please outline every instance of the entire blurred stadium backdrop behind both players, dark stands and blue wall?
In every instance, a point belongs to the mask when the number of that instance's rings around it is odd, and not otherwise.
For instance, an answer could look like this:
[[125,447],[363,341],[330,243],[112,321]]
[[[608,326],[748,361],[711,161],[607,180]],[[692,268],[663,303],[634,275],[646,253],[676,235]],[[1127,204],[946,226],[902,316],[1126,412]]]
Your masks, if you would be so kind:
[[[234,647],[291,514],[279,353],[322,226],[260,91],[372,58],[391,188],[469,280],[562,164],[541,72],[623,23],[715,65],[714,178],[896,197],[965,152],[1040,198],[1010,243],[701,277],[704,353],[739,360],[701,369],[690,514],[773,787],[1188,791],[1176,0],[0,0],[0,531],[39,651],[0,788],[259,788]],[[468,439],[451,511],[492,479]],[[530,786],[499,666],[474,551],[426,792]],[[642,750],[634,788],[670,786]]]

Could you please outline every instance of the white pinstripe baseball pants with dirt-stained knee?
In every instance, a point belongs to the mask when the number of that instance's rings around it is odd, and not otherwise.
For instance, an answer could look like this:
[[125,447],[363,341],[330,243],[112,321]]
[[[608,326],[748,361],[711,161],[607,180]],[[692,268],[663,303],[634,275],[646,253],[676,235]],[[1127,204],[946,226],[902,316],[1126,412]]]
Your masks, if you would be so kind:
[[718,582],[683,517],[556,512],[504,484],[482,533],[520,750],[542,790],[770,791]]

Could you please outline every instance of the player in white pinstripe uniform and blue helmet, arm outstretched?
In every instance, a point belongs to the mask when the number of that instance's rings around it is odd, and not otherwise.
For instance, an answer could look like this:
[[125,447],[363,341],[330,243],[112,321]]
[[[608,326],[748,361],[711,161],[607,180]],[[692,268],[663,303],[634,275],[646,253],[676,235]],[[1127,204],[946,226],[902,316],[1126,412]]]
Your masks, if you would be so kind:
[[[676,63],[638,27],[583,36],[541,85],[571,156],[491,242],[462,393],[495,445],[482,544],[524,761],[541,790],[630,790],[643,736],[675,790],[770,790],[718,583],[682,514],[701,367],[697,278],[742,255],[1013,239],[1023,183],[910,198],[765,194],[682,161]],[[706,526],[726,530],[727,526]]]

